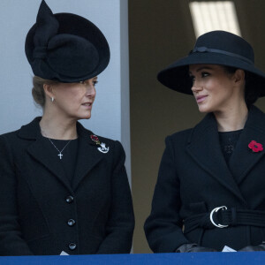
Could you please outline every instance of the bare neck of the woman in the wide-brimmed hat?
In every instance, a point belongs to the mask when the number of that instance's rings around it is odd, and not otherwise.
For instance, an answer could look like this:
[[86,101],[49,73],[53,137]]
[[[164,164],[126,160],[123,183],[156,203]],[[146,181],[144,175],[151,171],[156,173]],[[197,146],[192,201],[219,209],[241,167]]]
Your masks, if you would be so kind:
[[248,110],[246,103],[231,110],[214,112],[216,117],[218,132],[238,131],[246,124]]

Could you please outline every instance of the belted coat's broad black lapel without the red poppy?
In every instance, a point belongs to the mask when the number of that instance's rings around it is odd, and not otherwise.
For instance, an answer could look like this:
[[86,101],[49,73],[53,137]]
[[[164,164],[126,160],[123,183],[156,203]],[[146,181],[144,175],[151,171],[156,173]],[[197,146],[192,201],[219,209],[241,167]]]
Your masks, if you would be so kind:
[[223,158],[216,118],[213,114],[208,114],[199,125],[194,127],[186,150],[203,170],[216,178],[241,201],[245,201]]

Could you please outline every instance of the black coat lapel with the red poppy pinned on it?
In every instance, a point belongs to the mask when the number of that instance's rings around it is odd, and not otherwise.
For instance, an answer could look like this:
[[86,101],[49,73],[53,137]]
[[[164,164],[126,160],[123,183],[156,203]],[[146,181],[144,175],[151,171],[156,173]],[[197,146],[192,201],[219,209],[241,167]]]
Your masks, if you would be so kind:
[[246,125],[241,133],[237,147],[231,156],[230,168],[238,184],[246,178],[247,173],[254,168],[261,157],[265,154],[265,149],[261,152],[254,153],[248,144],[251,140],[261,143],[265,148],[265,115],[252,106],[248,112]]

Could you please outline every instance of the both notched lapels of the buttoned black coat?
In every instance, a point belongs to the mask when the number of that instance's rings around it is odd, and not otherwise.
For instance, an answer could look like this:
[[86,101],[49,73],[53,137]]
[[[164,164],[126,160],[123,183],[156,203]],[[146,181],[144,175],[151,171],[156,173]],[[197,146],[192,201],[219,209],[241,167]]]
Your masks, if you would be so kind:
[[40,121],[41,117],[35,117],[30,124],[21,127],[18,131],[18,135],[22,139],[34,140],[27,148],[27,152],[32,155],[36,161],[42,163],[45,168],[51,171],[51,173],[53,173],[70,191],[74,191],[79,186],[81,180],[102,160],[105,154],[99,152],[96,143],[91,140],[90,135],[94,133],[77,123],[79,150],[75,176],[71,185],[68,178],[64,176],[63,168],[58,166],[57,161],[50,155],[49,141],[42,137],[39,125]]

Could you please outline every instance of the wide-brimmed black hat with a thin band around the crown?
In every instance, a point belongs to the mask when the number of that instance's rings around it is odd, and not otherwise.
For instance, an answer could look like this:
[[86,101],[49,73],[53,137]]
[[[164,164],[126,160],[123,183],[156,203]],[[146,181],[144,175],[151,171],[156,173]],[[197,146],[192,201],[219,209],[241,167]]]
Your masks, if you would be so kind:
[[166,87],[193,95],[190,64],[220,64],[245,70],[254,77],[253,87],[265,95],[265,73],[254,66],[254,49],[238,35],[220,30],[202,34],[189,55],[159,72],[157,79]]

